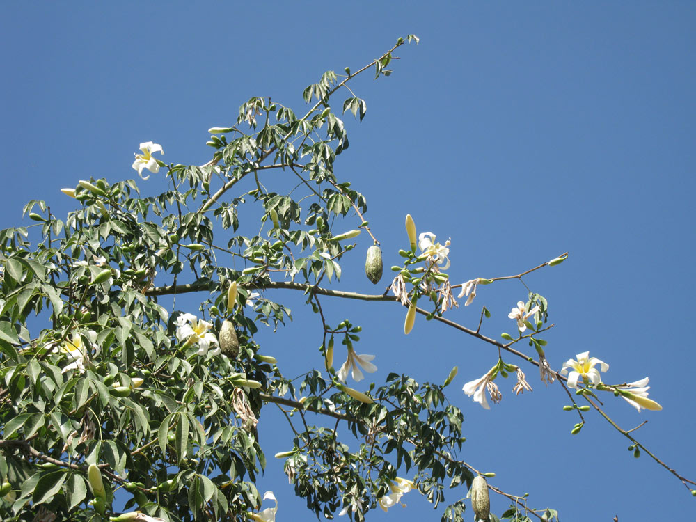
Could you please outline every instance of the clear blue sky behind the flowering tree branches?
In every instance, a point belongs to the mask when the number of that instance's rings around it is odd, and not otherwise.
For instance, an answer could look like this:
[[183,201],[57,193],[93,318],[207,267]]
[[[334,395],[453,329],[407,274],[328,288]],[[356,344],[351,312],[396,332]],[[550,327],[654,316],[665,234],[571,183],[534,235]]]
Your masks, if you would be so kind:
[[[234,122],[249,97],[299,111],[322,72],[356,70],[415,33],[420,45],[400,49],[392,77],[356,82],[367,116],[360,125],[345,118],[350,148],[336,169],[367,196],[386,267],[400,262],[406,213],[419,232],[452,238],[455,283],[569,251],[527,279],[556,324],[551,365],[589,349],[610,363],[607,382],[649,376],[663,411],[639,415],[612,397],[607,411],[625,428],[649,420],[638,437],[694,479],[695,26],[690,2],[4,2],[0,228],[19,223],[29,199],[65,214],[74,200],[61,187],[90,175],[133,177],[141,141],[161,143],[165,161],[202,164],[207,129]],[[139,185],[164,187],[157,175]],[[355,258],[339,287],[375,292]],[[485,304],[493,318],[483,331],[497,337],[514,330],[507,313],[525,296],[516,282],[482,287],[475,306],[450,318],[475,326]],[[289,328],[259,335],[288,375],[322,365],[317,319],[293,308]],[[489,347],[422,317],[404,338],[404,310],[387,303],[329,309],[334,322],[363,325],[358,353],[377,355],[378,383],[390,371],[439,382],[459,365],[450,400],[466,417],[463,457],[495,471],[496,486],[529,492],[531,505],[559,509],[564,522],[693,513],[696,498],[653,461],[634,459],[606,422],[590,416],[571,436],[562,390],[545,388],[531,367],[533,393],[514,397],[508,379],[503,403],[484,411],[461,386],[493,365]],[[308,322],[315,337],[304,336]],[[271,408],[259,430],[269,457],[290,448]],[[313,518],[270,460],[259,489],[276,493],[278,519]],[[370,519],[439,520],[441,509],[418,493],[403,500],[407,509]]]

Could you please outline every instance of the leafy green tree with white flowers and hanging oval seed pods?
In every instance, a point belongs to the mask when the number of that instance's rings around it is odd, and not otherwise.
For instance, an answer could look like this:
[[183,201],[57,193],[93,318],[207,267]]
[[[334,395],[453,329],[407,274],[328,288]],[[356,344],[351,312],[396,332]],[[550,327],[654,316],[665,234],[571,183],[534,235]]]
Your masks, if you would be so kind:
[[[324,299],[390,301],[404,306],[406,334],[422,315],[494,345],[496,363],[464,386],[475,402],[488,408],[488,397],[500,400],[498,377],[513,375],[516,393],[530,389],[521,367],[530,364],[567,393],[567,409],[578,415],[573,433],[585,413],[596,411],[631,440],[636,456],[642,451],[663,464],[597,400],[608,392],[639,410],[660,409],[647,397],[647,379],[603,383],[606,365],[587,353],[569,359],[561,374],[546,363],[540,335],[553,325],[543,296],[530,291],[517,303],[509,313],[517,332],[503,333],[503,341],[481,333],[485,306],[476,329],[446,317],[457,299],[470,305],[479,285],[521,279],[562,263],[566,253],[513,276],[452,285],[448,242],[419,235],[406,215],[403,263],[392,267],[386,292],[329,288],[341,277],[340,262],[362,252],[358,235],[370,237],[367,277],[383,278],[365,198],[334,174],[349,141],[331,101],[347,88],[342,113],[362,120],[366,103],[349,82],[370,70],[388,76],[393,52],[405,42],[418,38],[398,40],[356,72],[324,73],[303,93],[310,104],[304,116],[251,98],[236,125],[210,129],[214,154],[203,166],[166,165],[160,145],[141,144],[133,168],[141,177],[165,169],[171,188],[159,196],[141,197],[133,180],[82,180],[64,189],[81,203],[65,221],[42,201],[26,205],[38,222],[35,244],[29,228],[0,232],[4,520],[273,520],[276,508],[260,510],[255,486],[267,458],[256,427],[269,404],[291,409],[292,449],[276,457],[285,459],[296,494],[317,516],[362,520],[413,489],[438,505],[448,488],[464,486],[478,518],[489,516],[490,489],[511,502],[500,518],[557,519],[553,509],[528,508],[524,497],[487,484],[491,474],[459,458],[463,416],[444,393],[456,367],[442,384],[395,373],[382,386],[354,384],[374,371],[372,356],[356,353],[361,327],[325,315]],[[292,185],[285,187],[287,177],[264,179],[274,171],[292,177]],[[242,180],[254,188],[240,192]],[[271,182],[276,191],[266,188]],[[344,217],[358,221],[348,227]],[[290,318],[284,303],[260,294],[269,289],[301,292],[322,324],[323,360],[310,362],[315,367],[299,380],[287,378],[254,337],[259,324],[277,329]],[[176,308],[183,294],[203,296],[197,315]],[[348,354],[342,365],[333,360],[339,340]],[[531,354],[519,348],[523,343]],[[317,414],[317,425],[307,422],[308,413]],[[354,451],[345,443],[351,436],[359,442]],[[114,512],[115,495],[127,499],[126,514]],[[443,520],[463,519],[467,503],[450,503]]]

